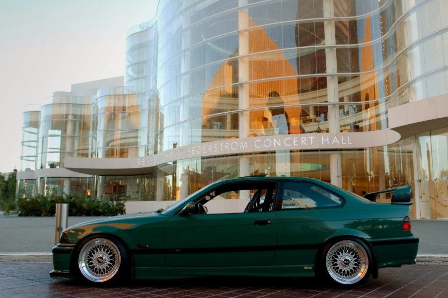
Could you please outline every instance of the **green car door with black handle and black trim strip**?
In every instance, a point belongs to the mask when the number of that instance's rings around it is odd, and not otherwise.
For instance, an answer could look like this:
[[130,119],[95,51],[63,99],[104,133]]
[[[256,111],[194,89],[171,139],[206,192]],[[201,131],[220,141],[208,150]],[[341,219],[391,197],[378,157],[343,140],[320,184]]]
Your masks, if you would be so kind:
[[[269,210],[268,201],[272,200],[272,187],[257,184],[244,188],[254,192],[251,202],[257,201],[256,212],[248,208],[238,213],[174,215],[165,228],[165,264],[167,267],[204,267],[204,266],[261,266],[270,265],[274,260],[277,244],[277,217]],[[242,184],[230,192],[241,196],[247,190]],[[263,190],[260,192],[260,188]],[[260,207],[260,198],[264,192]],[[268,194],[268,199],[266,197]],[[218,205],[235,204],[237,200],[224,199],[229,191],[219,192],[213,200]],[[221,198],[217,198],[221,197]],[[207,201],[212,201],[209,197]],[[247,200],[246,200],[247,201]],[[206,202],[202,199],[195,204]],[[262,203],[267,204],[262,204]],[[206,202],[204,206],[210,206]],[[241,202],[236,202],[241,203]],[[245,204],[244,204],[245,205]],[[244,207],[243,205],[243,207]],[[271,204],[272,205],[272,204]],[[213,209],[213,208],[209,208]],[[215,211],[220,211],[216,210]]]

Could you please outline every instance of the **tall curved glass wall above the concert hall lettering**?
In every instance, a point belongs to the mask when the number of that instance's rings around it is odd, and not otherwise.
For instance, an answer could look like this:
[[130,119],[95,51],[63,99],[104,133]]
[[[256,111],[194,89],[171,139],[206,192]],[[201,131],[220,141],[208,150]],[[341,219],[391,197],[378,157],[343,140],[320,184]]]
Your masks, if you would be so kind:
[[[235,3],[213,1],[205,11],[197,3],[176,8],[166,24],[163,13],[171,6],[161,6],[163,149],[197,142],[198,135],[182,137],[191,129],[238,136],[240,97],[248,97],[254,126],[269,126],[263,123],[266,111],[255,108],[271,105],[277,94],[279,105],[303,106],[288,112],[294,123],[327,118],[331,106],[317,110],[312,103],[332,101],[357,105],[363,118],[354,125],[372,131],[387,128],[385,107],[446,93],[448,28],[439,11],[447,4],[438,0],[411,10],[392,0],[333,1],[332,7],[321,0]],[[437,11],[434,18],[425,18],[430,11]],[[431,49],[443,55],[433,59]],[[330,79],[336,92],[328,89]],[[247,83],[247,94],[240,94],[241,83]],[[198,118],[201,124],[192,120]],[[346,123],[334,118],[334,131],[345,130]],[[171,127],[180,122],[186,130]]]

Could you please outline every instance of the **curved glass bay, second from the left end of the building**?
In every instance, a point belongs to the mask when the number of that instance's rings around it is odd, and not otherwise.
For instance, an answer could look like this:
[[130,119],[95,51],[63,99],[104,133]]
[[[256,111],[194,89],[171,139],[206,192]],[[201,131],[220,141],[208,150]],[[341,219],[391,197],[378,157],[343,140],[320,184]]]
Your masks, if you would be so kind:
[[36,168],[64,167],[66,156],[95,157],[97,113],[90,97],[69,94],[52,99],[40,112]]

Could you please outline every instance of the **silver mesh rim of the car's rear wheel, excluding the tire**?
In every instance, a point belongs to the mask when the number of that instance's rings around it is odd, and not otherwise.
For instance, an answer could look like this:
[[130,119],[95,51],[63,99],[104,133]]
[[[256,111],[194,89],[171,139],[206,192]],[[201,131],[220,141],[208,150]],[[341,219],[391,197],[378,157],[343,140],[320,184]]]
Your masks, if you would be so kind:
[[366,276],[369,256],[364,247],[356,241],[338,241],[328,250],[325,265],[334,281],[342,285],[352,285]]

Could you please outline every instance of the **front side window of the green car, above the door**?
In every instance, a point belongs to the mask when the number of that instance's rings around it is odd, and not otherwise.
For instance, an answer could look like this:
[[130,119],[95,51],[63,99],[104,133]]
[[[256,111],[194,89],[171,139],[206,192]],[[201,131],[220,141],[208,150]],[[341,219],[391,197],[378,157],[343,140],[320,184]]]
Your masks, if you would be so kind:
[[[201,204],[207,214],[274,211],[276,186],[275,182],[222,185],[196,201],[195,206]],[[200,212],[199,208],[197,211]]]

